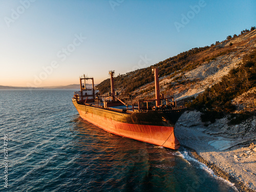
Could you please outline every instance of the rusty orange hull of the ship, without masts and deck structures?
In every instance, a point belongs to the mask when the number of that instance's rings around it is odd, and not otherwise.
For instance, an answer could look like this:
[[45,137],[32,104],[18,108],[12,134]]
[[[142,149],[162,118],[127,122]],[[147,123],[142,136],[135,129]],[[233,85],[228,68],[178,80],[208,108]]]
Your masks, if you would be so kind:
[[106,132],[177,150],[180,146],[174,126],[181,110],[120,112],[78,104],[73,100],[80,117]]

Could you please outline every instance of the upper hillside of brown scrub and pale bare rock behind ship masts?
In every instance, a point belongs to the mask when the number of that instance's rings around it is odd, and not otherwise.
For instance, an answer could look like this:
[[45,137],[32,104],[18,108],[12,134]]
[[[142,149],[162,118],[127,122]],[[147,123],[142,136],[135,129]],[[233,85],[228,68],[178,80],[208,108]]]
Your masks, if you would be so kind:
[[[222,42],[203,48],[194,48],[156,63],[159,68],[160,92],[177,100],[196,97],[208,87],[222,81],[231,70],[240,67],[243,58],[256,48],[256,30],[243,30],[239,35],[227,36]],[[130,93],[134,101],[154,98],[154,77],[151,67],[115,77],[116,91]],[[110,92],[110,79],[97,88]],[[243,93],[246,95],[246,93]],[[248,95],[248,94],[247,94]],[[243,96],[232,100],[239,103]],[[230,101],[231,102],[231,101]]]

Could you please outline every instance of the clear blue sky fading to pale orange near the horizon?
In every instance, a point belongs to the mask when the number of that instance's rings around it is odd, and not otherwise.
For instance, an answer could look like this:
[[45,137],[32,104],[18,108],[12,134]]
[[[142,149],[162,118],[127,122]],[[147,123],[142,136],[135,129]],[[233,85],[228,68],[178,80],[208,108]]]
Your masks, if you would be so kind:
[[0,85],[95,83],[256,25],[254,0],[0,0]]

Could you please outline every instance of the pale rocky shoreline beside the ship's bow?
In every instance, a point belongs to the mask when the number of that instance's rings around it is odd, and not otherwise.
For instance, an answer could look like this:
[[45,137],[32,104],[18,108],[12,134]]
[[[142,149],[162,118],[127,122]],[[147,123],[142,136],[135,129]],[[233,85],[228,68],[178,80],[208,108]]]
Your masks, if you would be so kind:
[[190,111],[180,117],[175,134],[181,145],[239,191],[256,191],[256,119],[228,126],[223,118],[205,126],[200,115]]

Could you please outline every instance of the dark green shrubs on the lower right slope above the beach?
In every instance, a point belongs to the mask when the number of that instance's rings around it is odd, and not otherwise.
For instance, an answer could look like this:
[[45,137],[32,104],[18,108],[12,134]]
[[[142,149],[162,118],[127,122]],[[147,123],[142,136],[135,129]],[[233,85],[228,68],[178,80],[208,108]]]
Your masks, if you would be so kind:
[[[223,112],[233,113],[236,116],[230,123],[235,123],[249,116],[255,115],[256,99],[256,49],[245,55],[239,67],[233,68],[222,77],[221,81],[208,87],[187,106],[203,112],[202,120],[214,122],[223,117]],[[245,95],[239,102],[232,102],[235,98]],[[240,111],[242,105],[242,112]],[[242,114],[242,115],[241,115]]]

